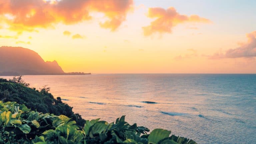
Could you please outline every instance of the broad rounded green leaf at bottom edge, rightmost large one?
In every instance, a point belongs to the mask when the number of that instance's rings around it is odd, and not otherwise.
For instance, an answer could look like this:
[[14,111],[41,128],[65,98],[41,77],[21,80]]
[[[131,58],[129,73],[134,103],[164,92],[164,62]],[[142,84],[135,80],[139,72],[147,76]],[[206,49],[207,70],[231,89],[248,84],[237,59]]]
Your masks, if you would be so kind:
[[171,131],[164,129],[154,129],[148,136],[149,144],[157,144],[160,140],[169,137]]

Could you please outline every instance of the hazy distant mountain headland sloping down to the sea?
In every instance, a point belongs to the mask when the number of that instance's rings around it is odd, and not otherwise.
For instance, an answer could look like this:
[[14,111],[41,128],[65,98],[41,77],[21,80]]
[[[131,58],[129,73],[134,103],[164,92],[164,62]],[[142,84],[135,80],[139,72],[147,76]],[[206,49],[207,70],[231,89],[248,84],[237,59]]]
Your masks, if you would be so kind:
[[44,61],[41,56],[23,47],[0,47],[0,75],[88,75],[91,73],[65,73],[57,61]]

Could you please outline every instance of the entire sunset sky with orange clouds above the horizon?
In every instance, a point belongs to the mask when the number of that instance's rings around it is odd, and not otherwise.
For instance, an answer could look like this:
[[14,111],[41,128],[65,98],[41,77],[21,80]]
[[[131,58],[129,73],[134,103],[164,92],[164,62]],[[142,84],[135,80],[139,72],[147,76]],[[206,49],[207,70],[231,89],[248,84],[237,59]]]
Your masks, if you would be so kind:
[[0,46],[29,48],[65,72],[256,73],[255,7],[255,0],[0,0]]

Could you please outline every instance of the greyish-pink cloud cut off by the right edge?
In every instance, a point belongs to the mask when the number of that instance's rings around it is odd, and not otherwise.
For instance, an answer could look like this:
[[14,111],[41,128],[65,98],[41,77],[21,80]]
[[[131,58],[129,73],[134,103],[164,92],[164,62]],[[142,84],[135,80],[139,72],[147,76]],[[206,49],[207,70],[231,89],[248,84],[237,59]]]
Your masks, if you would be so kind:
[[256,31],[247,34],[247,43],[240,47],[229,49],[226,52],[227,58],[256,57]]

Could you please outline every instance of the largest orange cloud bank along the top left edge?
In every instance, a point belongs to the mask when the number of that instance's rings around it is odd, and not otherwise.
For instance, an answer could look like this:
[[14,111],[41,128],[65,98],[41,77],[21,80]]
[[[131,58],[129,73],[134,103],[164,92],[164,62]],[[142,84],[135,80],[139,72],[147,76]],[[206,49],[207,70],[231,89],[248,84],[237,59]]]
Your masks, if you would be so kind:
[[34,31],[54,24],[76,24],[92,19],[91,12],[103,13],[103,28],[116,30],[133,9],[133,0],[4,0],[0,1],[1,21],[14,31]]

